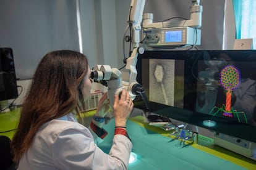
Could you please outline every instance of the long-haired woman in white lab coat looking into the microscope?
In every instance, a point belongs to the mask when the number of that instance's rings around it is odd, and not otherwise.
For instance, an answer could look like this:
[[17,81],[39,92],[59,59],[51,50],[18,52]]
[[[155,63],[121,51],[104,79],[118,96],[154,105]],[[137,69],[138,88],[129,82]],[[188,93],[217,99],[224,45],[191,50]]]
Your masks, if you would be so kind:
[[[85,55],[53,51],[36,68],[25,99],[19,126],[12,139],[18,169],[127,169],[132,143],[126,121],[134,104],[126,90],[116,95],[113,112],[115,135],[109,154],[95,144],[105,137],[106,94],[101,98],[90,127],[77,123],[85,110],[92,79]],[[97,140],[98,141],[98,140]]]

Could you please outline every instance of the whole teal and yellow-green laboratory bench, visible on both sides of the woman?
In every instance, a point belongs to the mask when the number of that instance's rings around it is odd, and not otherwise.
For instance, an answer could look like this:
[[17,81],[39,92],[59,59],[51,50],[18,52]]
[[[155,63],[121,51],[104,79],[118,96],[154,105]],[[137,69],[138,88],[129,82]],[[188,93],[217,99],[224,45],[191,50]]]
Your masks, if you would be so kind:
[[[90,119],[94,111],[82,115]],[[19,120],[19,109],[0,114],[1,136],[12,138]],[[108,153],[113,142],[114,120],[104,126],[108,136],[98,145]],[[4,132],[4,133],[3,133]],[[182,143],[170,136],[169,131],[150,126],[143,116],[127,121],[127,132],[132,140],[136,161],[129,169],[256,169],[256,161],[213,145],[213,139],[200,134],[192,144]]]

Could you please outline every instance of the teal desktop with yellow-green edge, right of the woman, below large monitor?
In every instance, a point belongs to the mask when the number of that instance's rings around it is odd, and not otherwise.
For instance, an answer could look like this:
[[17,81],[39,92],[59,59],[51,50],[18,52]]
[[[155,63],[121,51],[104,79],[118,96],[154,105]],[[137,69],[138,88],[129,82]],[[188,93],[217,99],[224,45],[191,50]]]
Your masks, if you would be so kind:
[[[114,135],[114,121],[111,120],[104,128],[109,134],[105,137],[105,141],[98,146],[108,153]],[[152,128],[157,128],[156,131],[161,134],[152,131]],[[142,116],[130,118],[127,121],[127,131],[134,145],[132,152],[138,156],[135,163],[129,164],[129,169],[256,169],[255,161],[235,153],[233,156],[227,155],[226,159],[205,152],[211,148],[198,144],[183,147],[183,145],[179,145],[178,140],[166,137],[168,133],[165,131],[143,123]],[[199,139],[201,142],[205,140],[212,144],[212,140],[207,137],[205,139],[199,137]],[[223,155],[221,156],[223,157]],[[236,158],[237,156],[241,159]]]

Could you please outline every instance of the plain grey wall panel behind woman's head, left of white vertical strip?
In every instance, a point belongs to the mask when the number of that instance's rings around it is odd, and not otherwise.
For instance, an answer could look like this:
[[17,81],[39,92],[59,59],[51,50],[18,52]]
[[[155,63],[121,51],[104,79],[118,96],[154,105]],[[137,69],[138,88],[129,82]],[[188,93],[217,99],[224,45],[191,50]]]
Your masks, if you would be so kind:
[[0,47],[11,47],[16,76],[32,78],[49,51],[79,49],[75,1],[1,0]]

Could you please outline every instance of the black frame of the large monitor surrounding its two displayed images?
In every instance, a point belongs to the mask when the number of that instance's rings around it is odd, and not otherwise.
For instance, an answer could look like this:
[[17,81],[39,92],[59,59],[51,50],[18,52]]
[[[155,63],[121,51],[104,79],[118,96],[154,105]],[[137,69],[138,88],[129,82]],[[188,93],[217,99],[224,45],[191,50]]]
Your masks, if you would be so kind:
[[[229,50],[229,51],[221,51],[221,50],[211,50],[211,51],[145,51],[143,54],[138,55],[137,60],[137,81],[138,83],[142,84],[142,71],[143,68],[141,67],[142,59],[175,59],[175,60],[184,60],[185,61],[185,74],[189,78],[193,78],[194,75],[189,73],[189,70],[192,65],[194,66],[195,73],[197,73],[197,61],[203,60],[202,56],[198,56],[198,54],[205,54],[207,52],[210,54],[210,59],[212,56],[216,56],[220,53],[228,53],[232,54],[233,61],[236,62],[244,62],[248,61],[249,55],[255,55],[255,50]],[[175,55],[171,55],[175,54]],[[184,54],[184,55],[182,55]],[[190,54],[190,55],[187,55]],[[247,54],[247,56],[241,56],[239,54]],[[188,57],[189,56],[189,57]],[[255,57],[256,59],[256,57]],[[145,70],[144,70],[145,71]],[[150,75],[147,75],[150,76]],[[143,78],[148,78],[147,76]],[[186,84],[185,86],[187,88],[193,88],[194,91],[197,91],[197,85],[195,83],[193,84]],[[146,94],[148,94],[148,89],[145,88]],[[196,96],[194,96],[196,100]],[[186,100],[186,99],[184,99]],[[189,99],[191,100],[191,98]],[[194,100],[194,101],[195,101]],[[149,101],[150,102],[150,101]],[[135,100],[135,107],[140,108],[142,110],[148,111],[147,108],[145,108],[145,104],[140,99]],[[160,103],[150,102],[150,111],[153,113],[157,113],[163,116],[168,116],[169,118],[177,119],[179,121],[184,121],[189,124],[194,124],[195,126],[200,126],[206,129],[210,129],[211,131],[221,132],[224,134],[228,134],[235,137],[240,137],[241,139],[249,140],[252,142],[256,142],[256,138],[254,137],[254,134],[256,134],[256,126],[252,124],[245,124],[245,123],[239,123],[237,121],[224,119],[212,115],[206,115],[203,113],[198,113],[194,110],[189,110],[188,108],[177,108],[177,107],[170,107],[168,105],[163,105]],[[215,127],[207,127],[202,124],[203,120],[211,119],[213,121],[216,121],[217,125]]]

